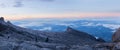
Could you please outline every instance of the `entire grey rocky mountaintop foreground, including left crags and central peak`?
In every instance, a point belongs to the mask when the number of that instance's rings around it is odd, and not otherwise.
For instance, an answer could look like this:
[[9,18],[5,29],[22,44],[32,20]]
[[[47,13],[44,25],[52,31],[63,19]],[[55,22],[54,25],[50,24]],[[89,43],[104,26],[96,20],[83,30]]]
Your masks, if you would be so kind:
[[71,27],[63,32],[38,31],[0,18],[0,50],[119,50],[119,34],[120,29],[113,35],[113,42],[107,43]]

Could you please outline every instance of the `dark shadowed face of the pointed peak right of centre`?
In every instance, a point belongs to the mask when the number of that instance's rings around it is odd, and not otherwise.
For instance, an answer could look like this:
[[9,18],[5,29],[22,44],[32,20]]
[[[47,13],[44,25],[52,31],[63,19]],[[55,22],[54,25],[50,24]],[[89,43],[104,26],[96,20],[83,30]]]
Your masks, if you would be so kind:
[[[71,27],[68,27],[66,29],[66,33],[68,35],[71,35],[73,36],[72,38],[70,38],[73,42],[75,42],[76,44],[82,44],[82,45],[85,45],[85,44],[95,44],[95,43],[98,43],[98,42],[101,42],[101,41],[98,41],[94,36],[88,34],[88,33],[85,33],[85,32],[82,32],[82,31],[78,31],[78,30],[75,30]],[[71,37],[70,36],[70,37]],[[68,36],[69,37],[69,36]],[[67,37],[64,37],[64,38],[67,38]],[[77,41],[76,41],[77,40]]]

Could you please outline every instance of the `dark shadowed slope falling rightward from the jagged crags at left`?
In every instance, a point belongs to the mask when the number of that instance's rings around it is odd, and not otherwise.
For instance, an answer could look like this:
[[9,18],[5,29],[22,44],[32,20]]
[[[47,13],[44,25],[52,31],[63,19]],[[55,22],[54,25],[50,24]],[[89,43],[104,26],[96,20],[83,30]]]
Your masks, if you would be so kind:
[[28,32],[26,29],[14,26],[10,22],[5,22],[3,18],[0,18],[0,35],[5,38],[10,38],[11,40],[27,40],[27,41],[35,41],[40,40],[43,41],[43,38]]

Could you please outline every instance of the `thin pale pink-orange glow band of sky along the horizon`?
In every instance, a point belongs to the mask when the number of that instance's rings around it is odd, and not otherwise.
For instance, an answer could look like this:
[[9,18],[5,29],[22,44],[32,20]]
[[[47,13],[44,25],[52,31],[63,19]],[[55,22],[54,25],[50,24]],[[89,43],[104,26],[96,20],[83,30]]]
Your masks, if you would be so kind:
[[103,18],[120,17],[120,13],[72,13],[72,14],[30,14],[30,15],[6,15],[6,20],[22,20],[37,18]]

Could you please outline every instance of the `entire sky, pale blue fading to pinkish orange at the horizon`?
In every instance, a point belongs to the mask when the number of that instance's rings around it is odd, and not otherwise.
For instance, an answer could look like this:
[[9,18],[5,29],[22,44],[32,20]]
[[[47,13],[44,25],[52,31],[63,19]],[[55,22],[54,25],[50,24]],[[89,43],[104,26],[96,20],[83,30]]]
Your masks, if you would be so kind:
[[120,17],[120,0],[0,0],[0,16],[7,20]]

